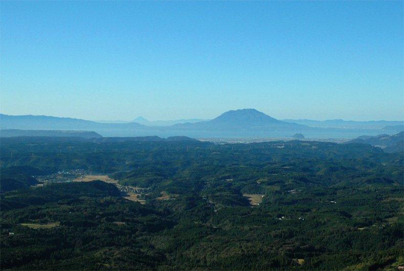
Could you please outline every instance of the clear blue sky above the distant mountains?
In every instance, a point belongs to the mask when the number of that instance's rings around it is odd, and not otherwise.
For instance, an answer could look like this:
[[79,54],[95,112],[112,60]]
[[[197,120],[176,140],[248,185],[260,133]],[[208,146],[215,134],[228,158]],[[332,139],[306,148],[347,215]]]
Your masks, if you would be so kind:
[[6,2],[0,112],[404,119],[403,2]]

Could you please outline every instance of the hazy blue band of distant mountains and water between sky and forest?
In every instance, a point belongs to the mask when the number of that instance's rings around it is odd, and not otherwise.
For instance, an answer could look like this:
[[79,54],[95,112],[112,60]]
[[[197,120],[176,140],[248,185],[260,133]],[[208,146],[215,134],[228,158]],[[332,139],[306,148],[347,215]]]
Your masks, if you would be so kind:
[[[296,120],[295,123],[291,120],[277,120],[256,109],[230,110],[209,121],[148,121],[143,117],[134,121],[136,122],[102,123],[73,118],[0,114],[0,129],[95,131],[103,137],[156,135],[167,138],[184,135],[191,138],[290,138],[292,134],[303,133],[306,138],[355,138],[361,134],[377,135],[386,126],[403,124],[399,121],[343,120]],[[168,125],[169,122],[183,121],[186,123]]]

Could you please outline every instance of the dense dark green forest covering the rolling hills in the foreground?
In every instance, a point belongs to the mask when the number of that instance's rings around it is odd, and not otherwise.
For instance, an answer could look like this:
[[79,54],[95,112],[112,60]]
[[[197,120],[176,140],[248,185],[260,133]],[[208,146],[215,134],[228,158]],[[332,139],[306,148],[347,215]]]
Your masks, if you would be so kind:
[[[402,152],[307,141],[0,144],[2,269],[404,265]],[[44,182],[57,172],[117,184]],[[122,187],[144,189],[145,204]]]

